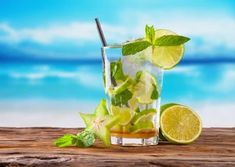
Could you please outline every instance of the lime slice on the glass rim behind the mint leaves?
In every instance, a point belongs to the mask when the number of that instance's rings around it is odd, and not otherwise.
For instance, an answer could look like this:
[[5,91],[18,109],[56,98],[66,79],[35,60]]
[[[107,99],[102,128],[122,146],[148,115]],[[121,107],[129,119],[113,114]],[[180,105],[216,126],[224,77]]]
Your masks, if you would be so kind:
[[[156,39],[164,35],[176,35],[176,33],[165,29],[157,29],[155,31],[155,34]],[[149,50],[149,48],[147,50]],[[153,49],[151,62],[163,69],[171,69],[180,62],[183,57],[183,54],[184,45],[155,46]]]

